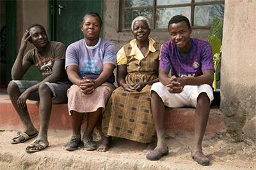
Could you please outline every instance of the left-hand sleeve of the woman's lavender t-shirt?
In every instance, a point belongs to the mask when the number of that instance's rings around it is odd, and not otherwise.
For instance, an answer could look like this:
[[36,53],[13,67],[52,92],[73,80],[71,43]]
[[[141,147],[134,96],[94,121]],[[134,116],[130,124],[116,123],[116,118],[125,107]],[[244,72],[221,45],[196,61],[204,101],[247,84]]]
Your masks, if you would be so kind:
[[69,45],[66,51],[65,69],[67,69],[67,66],[71,65],[79,66],[79,60],[76,48],[72,45]]

